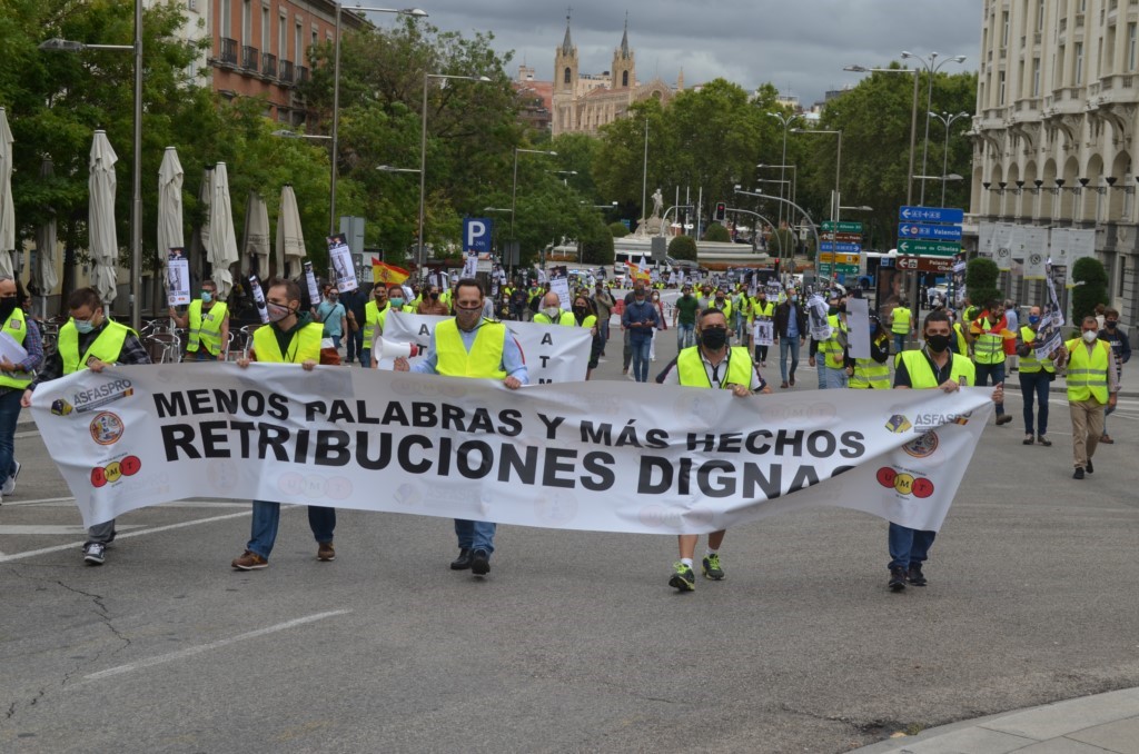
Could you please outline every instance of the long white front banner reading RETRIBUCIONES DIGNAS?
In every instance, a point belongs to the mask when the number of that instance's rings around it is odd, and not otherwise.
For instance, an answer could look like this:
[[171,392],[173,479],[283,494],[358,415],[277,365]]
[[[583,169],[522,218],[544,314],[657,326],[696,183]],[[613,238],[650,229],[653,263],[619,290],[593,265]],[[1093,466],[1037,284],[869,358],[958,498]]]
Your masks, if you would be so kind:
[[87,525],[205,495],[658,534],[841,506],[937,530],[989,395],[205,362],[76,372],[32,413]]

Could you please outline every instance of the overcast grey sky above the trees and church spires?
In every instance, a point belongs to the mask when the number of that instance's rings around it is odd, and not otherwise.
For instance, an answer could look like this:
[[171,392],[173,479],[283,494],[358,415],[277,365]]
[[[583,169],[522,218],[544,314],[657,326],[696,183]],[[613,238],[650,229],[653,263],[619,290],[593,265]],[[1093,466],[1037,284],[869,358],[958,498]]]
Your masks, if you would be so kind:
[[[582,73],[608,71],[629,13],[637,77],[673,83],[722,76],[754,89],[771,82],[810,105],[828,89],[858,81],[843,66],[877,66],[918,55],[965,55],[947,72],[976,71],[982,0],[416,0],[441,30],[494,33],[500,52],[515,51],[509,73],[525,60],[540,80],[554,75],[566,7]],[[345,6],[354,5],[346,0]]]

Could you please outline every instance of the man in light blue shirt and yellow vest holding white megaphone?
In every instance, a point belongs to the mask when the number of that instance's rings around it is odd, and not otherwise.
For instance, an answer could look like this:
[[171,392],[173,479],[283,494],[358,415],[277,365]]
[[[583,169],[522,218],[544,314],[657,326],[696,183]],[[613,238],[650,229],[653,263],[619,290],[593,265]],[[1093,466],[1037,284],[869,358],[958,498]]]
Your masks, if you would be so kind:
[[[483,284],[474,278],[459,280],[454,288],[456,314],[435,326],[427,355],[415,367],[401,356],[395,360],[395,370],[495,379],[509,390],[528,383],[518,342],[502,322],[483,319],[484,303]],[[451,569],[469,568],[476,576],[490,573],[494,530],[491,522],[456,518],[459,557],[451,563]]]

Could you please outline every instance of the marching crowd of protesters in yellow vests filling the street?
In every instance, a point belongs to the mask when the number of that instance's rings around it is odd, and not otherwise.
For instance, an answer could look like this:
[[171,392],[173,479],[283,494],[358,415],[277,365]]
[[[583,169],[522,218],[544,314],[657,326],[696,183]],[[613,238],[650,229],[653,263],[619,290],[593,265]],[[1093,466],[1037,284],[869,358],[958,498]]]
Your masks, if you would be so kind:
[[[446,280],[443,280],[446,282]],[[778,346],[778,390],[795,385],[805,347],[809,364],[818,371],[820,390],[916,388],[952,392],[961,386],[993,386],[997,425],[1013,421],[1003,410],[1006,378],[1018,372],[1024,396],[1024,444],[1051,445],[1048,440],[1048,391],[1058,374],[1067,383],[1067,399],[1073,428],[1073,477],[1082,480],[1095,470],[1092,457],[1099,443],[1112,443],[1106,416],[1116,405],[1122,367],[1131,347],[1118,325],[1118,313],[1103,309],[1097,317],[1080,323],[1080,335],[1050,353],[1035,351],[1041,327],[1039,308],[1029,310],[1026,321],[1016,318],[1013,302],[992,301],[966,308],[964,317],[939,306],[929,312],[920,328],[904,300],[884,319],[869,318],[869,353],[851,353],[852,318],[847,295],[842,288],[826,292],[820,298],[804,298],[795,287],[760,288],[748,292],[738,286],[685,284],[674,303],[664,304],[659,284],[634,281],[632,289],[616,298],[616,289],[597,280],[593,289],[579,288],[571,297],[571,309],[562,308],[559,295],[536,282],[528,287],[507,282],[489,295],[478,280],[465,278],[451,286],[408,286],[402,282],[376,285],[370,293],[337,292],[323,288],[322,301],[314,305],[302,296],[293,280],[273,279],[264,286],[269,323],[253,330],[245,351],[236,360],[239,368],[251,361],[297,363],[311,371],[318,364],[339,364],[343,346],[349,364],[378,364],[377,342],[383,336],[392,311],[437,314],[448,319],[434,329],[426,358],[415,364],[396,359],[400,371],[439,374],[451,377],[481,377],[502,382],[508,390],[528,384],[530,375],[515,338],[502,323],[506,319],[530,320],[542,325],[580,327],[592,334],[587,370],[597,368],[611,338],[611,322],[620,317],[623,335],[623,374],[639,383],[650,378],[655,361],[654,344],[659,333],[671,326],[677,331],[678,355],[655,376],[659,384],[694,388],[728,390],[747,399],[769,395],[772,385],[762,375],[769,355]],[[205,280],[200,296],[185,312],[171,309],[173,322],[188,334],[186,360],[207,361],[229,358],[230,312],[219,301],[216,286]],[[0,356],[0,492],[15,492],[19,462],[15,460],[15,429],[19,408],[31,405],[34,390],[81,369],[103,371],[110,364],[149,363],[139,335],[115,322],[92,288],[74,292],[68,301],[69,319],[58,331],[56,347],[44,353],[39,326],[28,318],[26,295],[11,278],[0,277],[0,320],[2,328],[26,358],[11,361]],[[859,320],[865,325],[865,318]],[[920,338],[917,337],[920,334]],[[823,337],[825,335],[825,337]],[[630,369],[632,374],[630,375]],[[759,399],[764,400],[764,399]],[[769,399],[770,400],[770,399]],[[251,536],[244,551],[232,560],[239,571],[264,568],[277,538],[280,505],[254,501]],[[336,511],[309,507],[309,524],[318,543],[317,558],[335,559],[333,543]],[[456,521],[459,548],[451,563],[456,571],[469,569],[477,576],[490,572],[494,552],[495,525],[489,522]],[[88,564],[100,565],[106,548],[115,538],[115,523],[91,527],[83,547]],[[724,532],[707,538],[700,562],[706,579],[724,579],[720,548]],[[923,565],[934,540],[934,532],[920,532],[890,524],[888,588],[901,591],[907,585],[924,587]],[[680,591],[695,589],[694,572],[697,536],[679,538],[679,559],[669,583]]]

